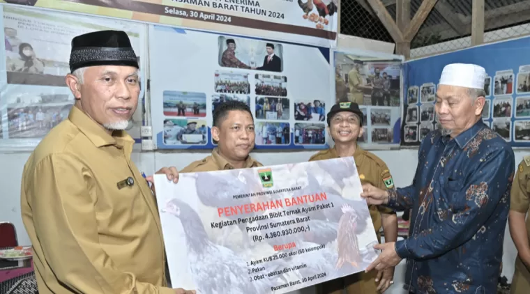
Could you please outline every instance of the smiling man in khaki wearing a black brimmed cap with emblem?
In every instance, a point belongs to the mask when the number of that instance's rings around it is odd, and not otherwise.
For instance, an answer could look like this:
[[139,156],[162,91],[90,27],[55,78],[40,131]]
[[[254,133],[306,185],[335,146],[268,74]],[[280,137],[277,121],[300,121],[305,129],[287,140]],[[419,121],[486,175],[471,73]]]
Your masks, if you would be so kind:
[[[309,161],[329,160],[353,156],[361,178],[361,183],[370,183],[381,189],[391,189],[394,185],[386,164],[376,155],[357,146],[357,139],[363,136],[363,112],[356,103],[340,102],[333,105],[328,113],[328,132],[335,146],[313,155]],[[379,230],[384,230],[386,242],[398,239],[398,218],[393,210],[370,206],[377,239],[381,242]],[[359,272],[349,277],[326,281],[317,285],[318,294],[339,294],[346,288],[348,294],[384,292],[393,284],[394,269],[384,272]],[[379,282],[379,285],[377,284]]]

